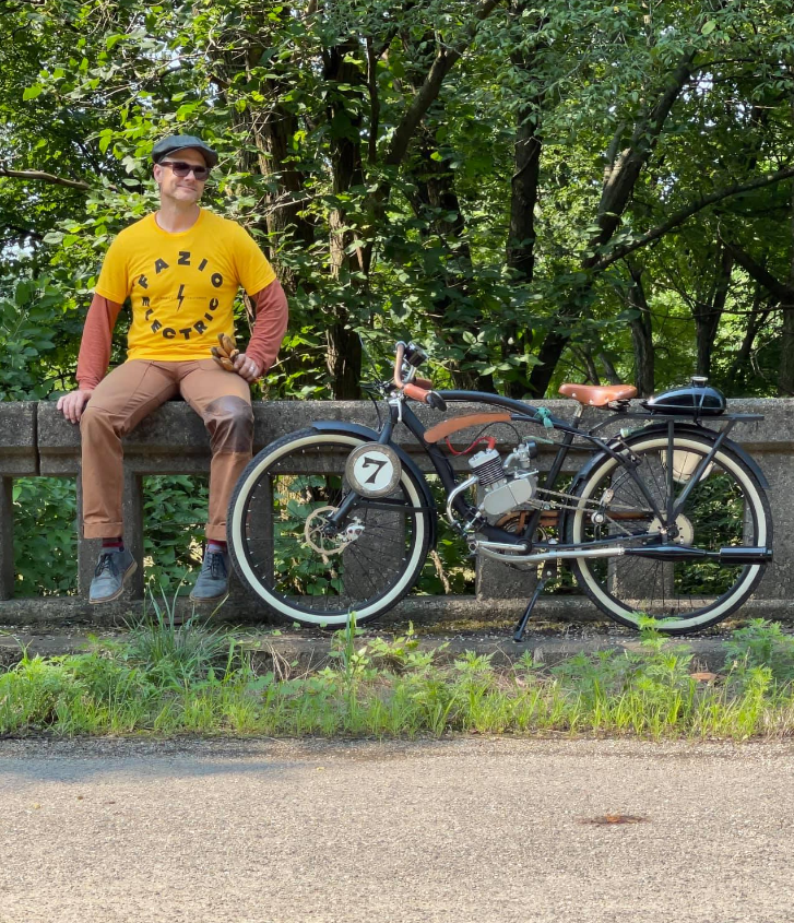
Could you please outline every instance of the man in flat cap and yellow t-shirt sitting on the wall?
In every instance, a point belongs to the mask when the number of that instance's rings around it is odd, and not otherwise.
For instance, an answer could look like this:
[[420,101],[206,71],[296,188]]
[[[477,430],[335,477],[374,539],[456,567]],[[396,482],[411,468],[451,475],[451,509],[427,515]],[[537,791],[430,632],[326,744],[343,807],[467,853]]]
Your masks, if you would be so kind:
[[[284,292],[254,240],[240,225],[199,206],[217,164],[215,151],[194,135],[175,135],[154,145],[152,159],[159,210],[110,245],[85,320],[78,390],[58,401],[67,419],[80,423],[83,534],[103,540],[92,603],[118,599],[138,567],[122,539],[121,437],[176,394],[204,421],[212,447],[206,552],[190,599],[217,602],[226,595],[226,509],[253,442],[249,384],[273,365],[287,324]],[[256,323],[229,372],[210,347],[220,333],[234,332],[239,286],[254,303]],[[106,375],[112,330],[128,297],[127,362]]]

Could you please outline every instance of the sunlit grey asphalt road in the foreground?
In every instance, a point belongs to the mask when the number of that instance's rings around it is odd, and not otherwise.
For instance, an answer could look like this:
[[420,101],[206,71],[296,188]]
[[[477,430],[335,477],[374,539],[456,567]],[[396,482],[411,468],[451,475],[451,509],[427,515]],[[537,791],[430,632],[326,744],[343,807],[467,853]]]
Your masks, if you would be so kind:
[[0,922],[787,923],[793,770],[785,742],[4,741]]

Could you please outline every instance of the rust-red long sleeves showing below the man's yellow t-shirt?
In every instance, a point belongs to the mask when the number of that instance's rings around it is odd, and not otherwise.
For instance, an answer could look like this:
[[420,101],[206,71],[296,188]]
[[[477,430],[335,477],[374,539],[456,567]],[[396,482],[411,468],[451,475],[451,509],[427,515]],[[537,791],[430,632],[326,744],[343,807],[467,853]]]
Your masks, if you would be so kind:
[[[251,300],[256,320],[246,355],[257,363],[264,375],[275,362],[286,333],[287,299],[281,283],[275,280],[251,296]],[[120,310],[121,305],[117,301],[94,295],[85,318],[78,358],[78,384],[85,391],[93,391],[107,372],[112,331]]]

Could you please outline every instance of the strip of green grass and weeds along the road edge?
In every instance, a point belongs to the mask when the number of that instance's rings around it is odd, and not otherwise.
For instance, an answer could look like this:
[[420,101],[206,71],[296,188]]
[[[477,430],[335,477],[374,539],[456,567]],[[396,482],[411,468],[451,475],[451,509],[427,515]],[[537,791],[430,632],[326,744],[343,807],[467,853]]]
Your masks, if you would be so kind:
[[638,650],[510,670],[446,660],[413,634],[334,636],[323,668],[258,675],[240,640],[167,605],[129,639],[29,658],[0,673],[0,734],[440,736],[448,733],[732,738],[794,732],[794,638],[756,620],[725,642],[715,676],[649,622]]

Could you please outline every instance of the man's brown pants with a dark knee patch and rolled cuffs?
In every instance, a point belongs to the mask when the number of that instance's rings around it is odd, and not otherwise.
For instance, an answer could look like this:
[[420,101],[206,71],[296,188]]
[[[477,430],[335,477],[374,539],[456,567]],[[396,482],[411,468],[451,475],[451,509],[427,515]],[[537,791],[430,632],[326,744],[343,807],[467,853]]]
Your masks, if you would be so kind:
[[248,383],[213,359],[132,359],[115,368],[91,395],[80,421],[83,442],[83,534],[122,535],[121,437],[155,407],[181,394],[210,434],[210,518],[206,537],[225,541],[232,490],[251,459],[253,412]]

